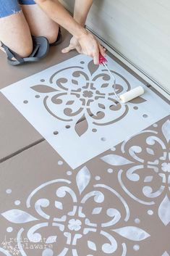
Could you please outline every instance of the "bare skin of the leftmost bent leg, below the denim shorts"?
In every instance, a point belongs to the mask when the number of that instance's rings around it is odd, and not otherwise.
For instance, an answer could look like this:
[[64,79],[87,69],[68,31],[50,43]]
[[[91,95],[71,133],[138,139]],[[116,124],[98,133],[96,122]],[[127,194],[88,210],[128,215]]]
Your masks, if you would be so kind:
[[0,19],[0,41],[21,57],[31,54],[33,42],[22,12]]

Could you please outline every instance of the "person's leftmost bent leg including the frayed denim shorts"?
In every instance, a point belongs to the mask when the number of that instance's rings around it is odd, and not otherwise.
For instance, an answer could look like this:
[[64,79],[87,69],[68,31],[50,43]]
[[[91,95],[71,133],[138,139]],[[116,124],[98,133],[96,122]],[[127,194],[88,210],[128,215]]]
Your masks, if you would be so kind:
[[30,29],[17,0],[0,0],[0,41],[20,57],[33,51]]

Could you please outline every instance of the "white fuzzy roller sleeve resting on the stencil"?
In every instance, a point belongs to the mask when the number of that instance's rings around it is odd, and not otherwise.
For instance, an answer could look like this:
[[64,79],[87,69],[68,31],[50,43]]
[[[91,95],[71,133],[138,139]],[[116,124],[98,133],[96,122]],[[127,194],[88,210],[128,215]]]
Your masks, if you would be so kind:
[[123,103],[129,102],[132,99],[137,98],[138,96],[144,94],[144,88],[143,86],[138,86],[134,89],[132,89],[131,91],[127,91],[125,94],[122,94],[119,96],[119,99],[121,99],[121,101]]

